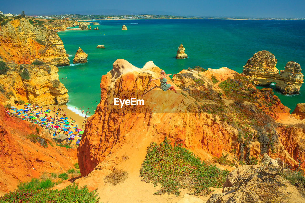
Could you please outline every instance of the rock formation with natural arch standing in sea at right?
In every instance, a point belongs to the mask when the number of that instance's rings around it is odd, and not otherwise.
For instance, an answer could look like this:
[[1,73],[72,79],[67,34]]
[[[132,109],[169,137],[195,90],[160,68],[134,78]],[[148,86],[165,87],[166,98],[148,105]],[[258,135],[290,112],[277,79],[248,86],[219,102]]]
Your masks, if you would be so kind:
[[303,84],[300,64],[293,61],[287,62],[285,70],[281,70],[278,74],[276,63],[277,60],[272,53],[260,51],[246,62],[242,73],[253,80],[255,86],[268,86],[276,83],[276,89],[283,94],[299,94]]

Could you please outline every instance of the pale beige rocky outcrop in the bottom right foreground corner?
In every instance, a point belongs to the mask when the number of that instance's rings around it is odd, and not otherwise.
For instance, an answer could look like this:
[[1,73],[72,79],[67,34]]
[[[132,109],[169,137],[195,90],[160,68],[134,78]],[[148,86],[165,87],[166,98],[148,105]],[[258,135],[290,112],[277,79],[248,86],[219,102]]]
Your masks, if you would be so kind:
[[264,154],[260,165],[245,165],[231,171],[222,193],[213,194],[207,203],[268,202],[271,199],[305,202],[301,190],[276,175],[284,167],[281,159],[274,160]]

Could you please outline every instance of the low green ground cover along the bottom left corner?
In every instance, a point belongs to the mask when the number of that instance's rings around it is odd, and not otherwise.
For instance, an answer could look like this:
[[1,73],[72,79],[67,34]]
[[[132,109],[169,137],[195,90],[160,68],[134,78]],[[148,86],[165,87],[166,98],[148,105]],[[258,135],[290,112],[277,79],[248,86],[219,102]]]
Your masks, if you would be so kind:
[[71,184],[62,190],[50,189],[23,189],[9,192],[0,197],[0,202],[65,202],[65,203],[99,203],[96,190],[89,192],[86,186],[80,187]]

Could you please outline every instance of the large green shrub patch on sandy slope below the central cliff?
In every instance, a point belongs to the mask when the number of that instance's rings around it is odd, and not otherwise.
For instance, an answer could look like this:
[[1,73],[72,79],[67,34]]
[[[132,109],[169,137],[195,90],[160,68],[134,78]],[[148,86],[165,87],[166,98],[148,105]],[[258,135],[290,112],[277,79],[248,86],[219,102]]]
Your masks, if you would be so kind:
[[170,145],[167,138],[160,145],[152,142],[147,149],[145,160],[141,165],[140,177],[145,182],[152,182],[161,189],[155,194],[180,194],[179,189],[192,189],[191,194],[205,195],[210,193],[209,187],[221,188],[228,171],[215,166],[207,166],[199,157],[180,144]]

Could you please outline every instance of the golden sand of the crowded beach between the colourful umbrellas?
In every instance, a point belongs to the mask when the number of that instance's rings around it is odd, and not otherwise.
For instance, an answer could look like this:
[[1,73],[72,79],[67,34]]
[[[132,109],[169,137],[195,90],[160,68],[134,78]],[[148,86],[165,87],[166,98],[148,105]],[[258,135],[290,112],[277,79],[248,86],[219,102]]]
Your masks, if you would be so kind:
[[[19,105],[19,106],[13,105],[13,106],[14,106],[16,109],[24,109],[24,108],[26,108],[26,107],[24,107],[24,105]],[[29,107],[32,108],[31,105],[30,105]],[[53,108],[55,108],[55,112],[52,111]],[[51,105],[51,106],[49,106],[49,109],[50,109],[51,111],[48,113],[48,117],[54,118],[54,115],[56,114],[58,108],[61,108],[61,109],[62,109],[62,110],[61,110],[61,115],[59,114],[59,115],[58,115],[58,118],[64,117],[64,116],[63,116],[63,112],[65,112],[65,113],[66,113],[66,116],[65,116],[65,117],[68,117],[67,120],[68,120],[68,122],[69,122],[69,126],[72,128],[71,131],[75,131],[76,128],[74,128],[74,127],[76,127],[76,126],[77,126],[77,128],[79,128],[79,129],[81,129],[81,130],[84,130],[84,129],[85,129],[85,123],[84,123],[84,119],[85,119],[85,118],[82,117],[82,116],[80,116],[80,115],[78,115],[78,114],[76,114],[75,112],[71,111],[70,109],[68,109],[67,105],[62,105],[62,106]],[[37,110],[33,110],[33,111],[32,111],[33,114],[31,114],[31,115],[34,116],[35,113],[36,113],[36,111],[38,111],[38,110],[41,110],[41,107],[38,107]],[[47,110],[47,106],[44,106],[44,107],[43,107],[43,111],[45,111],[45,110]],[[16,112],[13,111],[12,109],[9,110],[9,112],[10,112],[10,113],[14,113],[14,114],[16,115]],[[43,115],[42,115],[42,114],[39,114],[39,117],[41,117],[41,116],[43,116]],[[70,118],[71,118],[71,119],[70,119]],[[72,122],[72,119],[75,120],[75,122]],[[29,122],[30,122],[30,121],[29,121]],[[87,122],[87,121],[86,121],[86,122]],[[50,125],[53,125],[53,124],[51,123]],[[83,126],[84,126],[84,127],[83,127]],[[59,130],[57,130],[57,132],[60,132],[61,134],[63,133],[63,131],[59,131]],[[50,135],[50,136],[53,137],[53,135]],[[78,137],[78,135],[76,135],[75,138],[74,138],[74,140],[73,140],[73,141],[69,141],[69,143],[71,143],[71,144],[76,144],[76,141],[77,141],[77,140],[80,140],[80,139],[81,139],[81,137]]]

